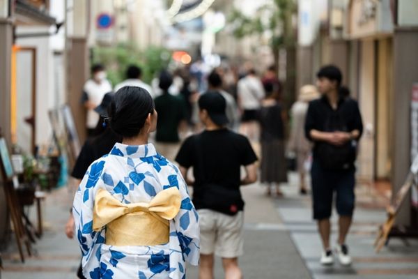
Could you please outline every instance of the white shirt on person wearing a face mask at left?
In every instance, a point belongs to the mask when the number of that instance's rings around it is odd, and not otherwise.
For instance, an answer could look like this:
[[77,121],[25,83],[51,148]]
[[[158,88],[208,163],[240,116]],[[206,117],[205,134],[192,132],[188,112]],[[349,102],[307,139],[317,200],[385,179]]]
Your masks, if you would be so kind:
[[[111,84],[109,80],[103,80],[98,84],[93,80],[88,80],[84,84],[83,91],[87,94],[88,100],[93,103],[95,106],[102,103],[103,97],[106,93],[111,92]],[[89,129],[95,128],[98,125],[100,115],[94,110],[87,111],[87,121],[86,126]]]

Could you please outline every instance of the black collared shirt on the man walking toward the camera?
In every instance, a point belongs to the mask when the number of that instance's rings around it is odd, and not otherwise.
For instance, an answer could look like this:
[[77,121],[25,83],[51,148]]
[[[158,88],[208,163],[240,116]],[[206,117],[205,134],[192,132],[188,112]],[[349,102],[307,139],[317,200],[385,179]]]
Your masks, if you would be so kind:
[[[340,98],[336,110],[334,110],[326,96],[313,100],[309,103],[304,130],[306,137],[311,141],[313,141],[311,130],[321,132],[339,130],[348,133],[353,130],[359,130],[361,136],[363,123],[359,106],[351,98]],[[314,146],[314,158],[316,157],[318,157],[318,144]]]

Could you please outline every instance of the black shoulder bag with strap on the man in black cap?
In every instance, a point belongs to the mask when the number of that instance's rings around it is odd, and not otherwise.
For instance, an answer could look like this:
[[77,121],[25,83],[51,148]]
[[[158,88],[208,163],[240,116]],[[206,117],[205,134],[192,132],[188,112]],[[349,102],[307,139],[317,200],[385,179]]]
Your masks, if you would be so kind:
[[193,196],[199,199],[204,209],[211,209],[229,216],[234,216],[238,211],[244,209],[244,201],[242,200],[240,189],[227,188],[216,183],[206,182],[201,135],[197,137],[197,155],[201,163],[200,174],[203,184],[201,186],[195,186]]

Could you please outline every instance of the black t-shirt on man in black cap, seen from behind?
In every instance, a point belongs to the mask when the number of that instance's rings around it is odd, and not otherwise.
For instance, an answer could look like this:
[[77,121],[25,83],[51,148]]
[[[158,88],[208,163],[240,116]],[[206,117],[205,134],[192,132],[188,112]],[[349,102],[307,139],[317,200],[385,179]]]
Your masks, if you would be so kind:
[[[256,162],[257,156],[247,137],[228,129],[204,131],[183,143],[176,161],[183,167],[193,167],[194,191],[203,184],[217,184],[240,191],[240,167]],[[194,199],[196,209],[199,200]]]

